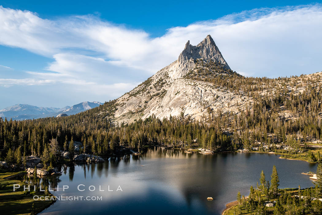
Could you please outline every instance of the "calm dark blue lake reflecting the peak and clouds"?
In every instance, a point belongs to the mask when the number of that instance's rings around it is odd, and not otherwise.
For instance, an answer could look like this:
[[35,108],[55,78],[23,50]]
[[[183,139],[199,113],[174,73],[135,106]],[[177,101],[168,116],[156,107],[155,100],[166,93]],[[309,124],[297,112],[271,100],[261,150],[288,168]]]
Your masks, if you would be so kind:
[[[274,154],[187,154],[180,150],[148,149],[140,156],[109,158],[98,164],[62,166],[63,174],[51,179],[59,185],[55,196],[94,196],[102,200],[57,200],[43,214],[221,214],[238,191],[249,194],[261,170],[270,180],[273,165],[279,173],[279,188],[313,186],[308,175],[317,165],[279,159]],[[78,191],[77,186],[83,184]],[[62,186],[69,188],[62,191]],[[95,191],[89,191],[89,186]],[[99,191],[99,185],[101,190]],[[109,189],[113,191],[108,191]],[[123,191],[116,191],[120,185]],[[90,187],[93,189],[93,187]],[[213,201],[206,200],[213,197]],[[80,199],[80,197],[79,197]]]

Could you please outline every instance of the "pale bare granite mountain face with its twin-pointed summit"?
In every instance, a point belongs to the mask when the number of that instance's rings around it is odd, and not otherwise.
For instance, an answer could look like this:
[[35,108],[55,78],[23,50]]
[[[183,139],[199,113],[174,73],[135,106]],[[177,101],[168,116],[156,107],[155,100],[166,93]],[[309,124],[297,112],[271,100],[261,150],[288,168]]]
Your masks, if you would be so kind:
[[[208,69],[210,65],[212,71]],[[175,62],[115,100],[113,107],[106,112],[119,123],[134,122],[152,115],[158,118],[183,115],[200,119],[209,110],[236,112],[232,104],[243,103],[244,97],[199,79],[218,74],[239,75],[232,72],[210,35],[196,46],[188,41]]]

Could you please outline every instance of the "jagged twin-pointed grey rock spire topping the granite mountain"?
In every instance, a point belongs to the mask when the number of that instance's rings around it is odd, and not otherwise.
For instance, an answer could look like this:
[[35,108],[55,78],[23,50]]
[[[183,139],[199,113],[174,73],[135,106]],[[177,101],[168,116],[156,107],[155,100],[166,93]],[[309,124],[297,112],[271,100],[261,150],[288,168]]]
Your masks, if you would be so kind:
[[185,44],[185,48],[179,55],[178,60],[173,68],[173,72],[170,77],[173,79],[181,78],[189,70],[193,69],[195,60],[197,59],[213,60],[220,63],[224,69],[230,69],[229,65],[220,53],[217,45],[213,41],[213,38],[208,34],[203,41],[194,46],[190,44],[190,41]]

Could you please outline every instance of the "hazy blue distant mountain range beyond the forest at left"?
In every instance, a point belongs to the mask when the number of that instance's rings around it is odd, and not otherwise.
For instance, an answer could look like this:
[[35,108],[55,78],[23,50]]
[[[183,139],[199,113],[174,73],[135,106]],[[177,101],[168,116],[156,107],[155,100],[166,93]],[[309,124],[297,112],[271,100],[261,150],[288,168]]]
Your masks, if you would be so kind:
[[37,107],[29,104],[16,104],[11,107],[0,110],[0,117],[12,118],[13,120],[37,119],[43,117],[57,116],[61,113],[73,115],[82,111],[98,107],[103,103],[100,102],[81,102],[73,106],[63,108],[56,107]]

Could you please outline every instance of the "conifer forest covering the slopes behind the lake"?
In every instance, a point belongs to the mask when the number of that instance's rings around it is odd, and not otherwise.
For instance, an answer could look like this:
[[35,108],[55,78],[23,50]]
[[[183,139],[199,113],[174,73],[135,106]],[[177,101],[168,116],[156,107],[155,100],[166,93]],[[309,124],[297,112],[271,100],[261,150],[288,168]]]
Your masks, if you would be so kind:
[[23,154],[54,160],[58,152],[51,150],[53,139],[57,140],[58,151],[68,151],[73,140],[82,143],[81,152],[101,156],[115,153],[119,146],[198,145],[212,151],[258,146],[263,151],[263,144],[274,148],[281,143],[289,146],[287,153],[294,154],[301,142],[322,140],[321,77],[321,73],[275,79],[244,77],[222,69],[216,62],[198,60],[185,78],[244,96],[245,109],[223,112],[208,108],[201,120],[181,114],[115,124],[113,113],[118,107],[113,100],[68,117],[24,121],[1,118],[0,156],[12,162]]

